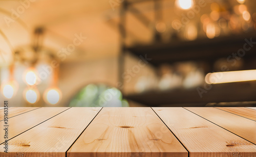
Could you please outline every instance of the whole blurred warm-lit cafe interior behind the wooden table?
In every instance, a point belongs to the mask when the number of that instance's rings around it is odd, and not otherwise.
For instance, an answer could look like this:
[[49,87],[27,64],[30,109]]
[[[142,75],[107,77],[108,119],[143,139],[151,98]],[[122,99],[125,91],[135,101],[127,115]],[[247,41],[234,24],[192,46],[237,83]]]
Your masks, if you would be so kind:
[[0,99],[255,107],[255,8],[251,0],[0,0]]

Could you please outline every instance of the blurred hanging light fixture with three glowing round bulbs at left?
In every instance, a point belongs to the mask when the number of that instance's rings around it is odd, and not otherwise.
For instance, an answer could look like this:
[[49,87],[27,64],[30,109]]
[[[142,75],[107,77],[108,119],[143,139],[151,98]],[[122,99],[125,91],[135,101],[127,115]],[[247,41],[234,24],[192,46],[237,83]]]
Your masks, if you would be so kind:
[[[1,12],[1,11],[0,11]],[[22,21],[19,21],[23,27],[26,28],[26,24]],[[40,73],[37,71],[38,65],[41,63],[50,63],[52,61],[59,62],[58,58],[55,57],[53,51],[49,48],[46,48],[42,45],[43,43],[43,35],[44,28],[36,28],[34,31],[34,36],[32,38],[31,45],[22,45],[16,47],[15,49],[10,44],[10,41],[5,36],[5,34],[0,30],[0,35],[2,35],[7,44],[10,46],[11,51],[13,51],[13,63],[10,66],[10,76],[9,80],[6,82],[2,82],[1,84],[1,93],[8,99],[12,98],[18,89],[18,84],[13,79],[13,65],[14,63],[21,63],[28,66],[28,69],[23,73],[23,81],[27,84],[27,88],[24,90],[24,99],[30,104],[37,103],[40,99],[40,93],[37,90],[37,85],[42,81],[49,78],[49,75],[52,75],[49,71],[41,71]],[[51,67],[55,68],[55,67]],[[40,69],[40,68],[39,68]],[[38,70],[39,70],[38,69]],[[45,69],[44,69],[45,70]],[[50,104],[56,104],[61,99],[61,91],[57,87],[57,73],[58,68],[54,72],[54,78],[52,81],[52,85],[48,88],[44,93],[45,101]]]

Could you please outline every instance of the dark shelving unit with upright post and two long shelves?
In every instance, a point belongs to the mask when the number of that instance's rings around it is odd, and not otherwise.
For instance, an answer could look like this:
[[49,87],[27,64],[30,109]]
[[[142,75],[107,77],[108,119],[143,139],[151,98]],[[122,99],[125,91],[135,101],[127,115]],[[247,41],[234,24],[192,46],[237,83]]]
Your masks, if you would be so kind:
[[[161,18],[161,1],[155,2],[155,21]],[[159,33],[155,31],[154,40],[148,44],[137,44],[133,46],[125,45],[125,12],[133,11],[128,9],[132,6],[133,2],[123,2],[120,9],[120,35],[121,35],[121,53],[119,62],[119,80],[123,83],[122,73],[124,71],[124,53],[129,52],[134,56],[140,55],[147,58],[151,58],[149,61],[151,65],[158,68],[159,65],[167,63],[172,64],[175,62],[183,61],[202,61],[207,63],[210,69],[205,71],[206,73],[212,72],[214,69],[213,63],[220,59],[228,59],[228,57],[237,53],[239,49],[244,48],[244,44],[247,43],[245,39],[256,41],[256,32],[251,31],[243,34],[231,34],[230,36],[220,36],[214,39],[198,38],[194,41],[185,40],[172,40],[169,42],[163,42],[159,40]],[[137,19],[141,20],[142,24],[145,24],[143,14],[138,15]],[[245,62],[252,63],[256,61],[256,46],[252,46],[245,55],[242,57]],[[241,70],[255,69],[256,65],[249,64]],[[231,101],[256,101],[255,82],[244,83],[229,83],[212,85],[212,89],[204,93],[201,98],[198,94],[197,88],[194,89],[174,89],[174,90],[153,90],[143,93],[132,93],[124,95],[125,98],[145,104],[146,106],[161,106],[163,104],[177,104],[177,103],[209,103],[209,102],[231,102]],[[204,89],[204,87],[199,87]],[[227,94],[228,93],[228,94]]]

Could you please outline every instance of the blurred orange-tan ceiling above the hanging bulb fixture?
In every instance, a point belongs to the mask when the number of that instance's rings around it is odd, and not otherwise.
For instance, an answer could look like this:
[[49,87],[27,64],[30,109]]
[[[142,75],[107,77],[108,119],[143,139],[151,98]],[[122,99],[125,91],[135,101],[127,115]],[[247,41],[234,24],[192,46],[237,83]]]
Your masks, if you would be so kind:
[[[32,0],[31,0],[32,1]],[[84,61],[105,57],[113,57],[119,53],[118,32],[108,24],[106,15],[117,15],[109,1],[83,0],[24,0],[24,9],[19,1],[0,0],[0,29],[15,49],[20,45],[32,42],[32,33],[36,27],[45,28],[44,46],[58,51],[73,43],[75,34],[87,39],[76,46],[74,53],[64,62]],[[24,10],[22,10],[22,8]],[[19,18],[6,23],[6,12],[12,13],[20,9]],[[117,16],[113,16],[117,20]],[[20,22],[24,22],[23,27]],[[0,49],[5,52],[5,59],[11,60],[11,48],[3,37],[0,37]]]

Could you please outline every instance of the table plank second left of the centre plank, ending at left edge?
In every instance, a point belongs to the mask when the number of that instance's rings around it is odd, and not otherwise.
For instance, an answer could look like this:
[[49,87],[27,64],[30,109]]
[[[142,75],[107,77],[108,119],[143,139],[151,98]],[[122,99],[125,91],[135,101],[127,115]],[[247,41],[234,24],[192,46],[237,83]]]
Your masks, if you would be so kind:
[[[27,112],[22,115],[8,119],[9,133],[8,139],[25,132],[35,125],[48,120],[49,118],[68,110],[69,108],[39,108],[37,110]],[[4,121],[0,121],[0,126],[4,126]],[[4,129],[0,129],[0,135],[4,135]],[[0,144],[5,141],[4,136],[0,136]]]

